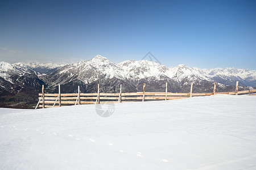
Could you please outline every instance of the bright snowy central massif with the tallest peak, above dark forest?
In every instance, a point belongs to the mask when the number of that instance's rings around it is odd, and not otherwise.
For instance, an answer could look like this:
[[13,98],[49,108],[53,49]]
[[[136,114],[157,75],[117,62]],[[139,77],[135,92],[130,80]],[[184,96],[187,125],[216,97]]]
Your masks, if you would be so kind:
[[73,78],[78,78],[85,84],[89,84],[102,78],[139,81],[144,78],[161,74],[166,75],[168,78],[176,80],[177,82],[181,82],[184,79],[190,81],[195,81],[197,79],[210,81],[210,78],[208,78],[207,75],[204,75],[201,70],[193,69],[185,65],[168,68],[155,61],[148,60],[129,60],[115,64],[100,55],[97,55],[90,60],[65,65],[51,76],[58,77],[52,84],[67,83]]

